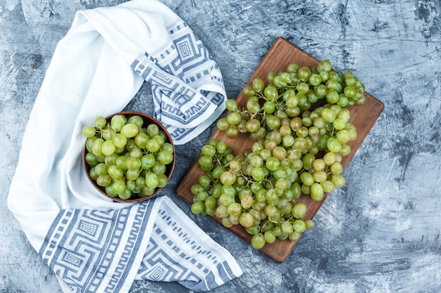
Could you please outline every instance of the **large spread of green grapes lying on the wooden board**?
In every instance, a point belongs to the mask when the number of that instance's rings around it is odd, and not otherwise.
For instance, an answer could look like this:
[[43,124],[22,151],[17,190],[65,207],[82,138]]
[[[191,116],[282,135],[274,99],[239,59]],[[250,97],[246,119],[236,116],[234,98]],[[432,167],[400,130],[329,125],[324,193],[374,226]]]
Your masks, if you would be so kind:
[[301,194],[323,200],[345,185],[342,157],[357,137],[347,106],[363,105],[364,84],[352,72],[338,74],[325,60],[316,67],[290,64],[286,72],[245,86],[246,105],[226,102],[217,127],[228,138],[249,134],[254,144],[239,155],[223,141],[201,148],[205,172],[192,186],[192,211],[240,224],[260,249],[276,238],[297,241],[313,221],[304,219]]

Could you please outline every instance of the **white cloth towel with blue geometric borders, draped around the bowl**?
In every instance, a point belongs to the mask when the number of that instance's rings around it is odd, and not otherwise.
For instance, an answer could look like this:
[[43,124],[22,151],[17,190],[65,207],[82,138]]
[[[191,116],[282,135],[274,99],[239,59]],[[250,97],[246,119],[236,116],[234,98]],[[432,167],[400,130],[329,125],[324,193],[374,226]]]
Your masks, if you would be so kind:
[[177,144],[225,109],[218,66],[161,2],[79,11],[46,71],[8,194],[8,208],[63,292],[128,292],[134,280],[203,292],[242,275],[168,196],[113,202],[88,182],[82,126],[122,110],[144,81]]

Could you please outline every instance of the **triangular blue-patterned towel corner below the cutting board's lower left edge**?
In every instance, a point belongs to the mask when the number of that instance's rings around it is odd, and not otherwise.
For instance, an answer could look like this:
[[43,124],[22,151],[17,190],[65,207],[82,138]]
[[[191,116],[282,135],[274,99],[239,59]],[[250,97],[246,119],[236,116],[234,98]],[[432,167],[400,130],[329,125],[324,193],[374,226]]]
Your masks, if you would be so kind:
[[[182,211],[161,206],[137,280],[179,282],[196,292],[209,291],[234,278],[228,262],[201,239],[182,219]],[[216,277],[213,272],[216,272]]]

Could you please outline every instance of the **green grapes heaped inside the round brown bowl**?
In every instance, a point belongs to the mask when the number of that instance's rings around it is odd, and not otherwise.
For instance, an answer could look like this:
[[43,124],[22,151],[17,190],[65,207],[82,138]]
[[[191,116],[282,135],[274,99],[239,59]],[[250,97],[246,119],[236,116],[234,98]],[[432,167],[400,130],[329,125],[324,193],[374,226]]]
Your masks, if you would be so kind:
[[144,126],[139,115],[102,116],[82,128],[87,138],[85,161],[89,176],[107,195],[128,200],[152,195],[168,183],[166,169],[173,162],[174,147],[156,124]]

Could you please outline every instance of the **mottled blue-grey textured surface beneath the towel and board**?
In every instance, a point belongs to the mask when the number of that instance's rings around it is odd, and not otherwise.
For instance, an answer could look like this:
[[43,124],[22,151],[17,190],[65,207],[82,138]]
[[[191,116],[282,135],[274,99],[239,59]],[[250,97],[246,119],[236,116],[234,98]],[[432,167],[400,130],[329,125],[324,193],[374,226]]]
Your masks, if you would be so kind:
[[[21,138],[59,39],[75,11],[123,0],[0,0],[0,292],[58,293],[54,273],[6,207]],[[216,59],[235,98],[277,37],[340,72],[352,70],[385,110],[284,263],[251,249],[175,195],[211,129],[178,147],[166,193],[239,261],[213,292],[441,292],[441,1],[163,0]],[[149,112],[146,85],[128,105]],[[188,292],[135,282],[132,293]]]

